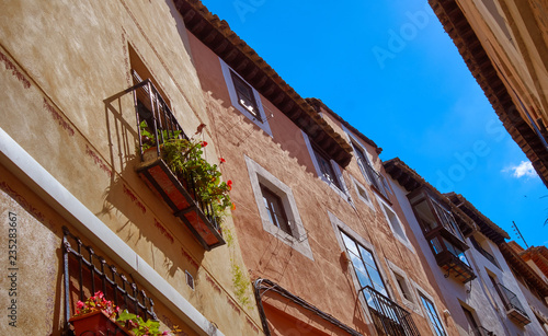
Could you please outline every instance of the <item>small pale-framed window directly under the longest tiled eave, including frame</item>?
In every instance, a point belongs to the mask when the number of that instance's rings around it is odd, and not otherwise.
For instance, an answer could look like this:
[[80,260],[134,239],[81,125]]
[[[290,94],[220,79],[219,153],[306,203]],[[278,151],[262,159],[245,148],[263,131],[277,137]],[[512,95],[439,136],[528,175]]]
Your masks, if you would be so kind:
[[272,130],[267,121],[269,118],[264,113],[263,104],[261,104],[259,92],[222,59],[219,58],[219,61],[232,106],[272,137]]

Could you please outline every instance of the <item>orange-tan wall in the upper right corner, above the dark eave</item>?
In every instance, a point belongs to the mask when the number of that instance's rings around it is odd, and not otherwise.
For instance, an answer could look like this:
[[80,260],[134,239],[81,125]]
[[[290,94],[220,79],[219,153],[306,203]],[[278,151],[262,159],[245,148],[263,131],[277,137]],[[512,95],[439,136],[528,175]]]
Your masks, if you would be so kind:
[[[548,20],[546,1],[459,0],[510,92],[515,90],[529,114],[548,120]],[[517,104],[517,101],[515,102]],[[522,112],[523,113],[523,112]],[[524,119],[527,117],[524,115]]]

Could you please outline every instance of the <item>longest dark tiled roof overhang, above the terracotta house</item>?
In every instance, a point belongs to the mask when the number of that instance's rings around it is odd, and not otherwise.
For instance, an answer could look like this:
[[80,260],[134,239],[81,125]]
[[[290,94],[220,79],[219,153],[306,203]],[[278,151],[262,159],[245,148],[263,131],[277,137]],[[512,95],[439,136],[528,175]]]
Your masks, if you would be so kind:
[[352,147],[289,86],[228,23],[199,0],[175,0],[189,32],[196,36],[265,99],[272,102],[341,166],[352,160]]

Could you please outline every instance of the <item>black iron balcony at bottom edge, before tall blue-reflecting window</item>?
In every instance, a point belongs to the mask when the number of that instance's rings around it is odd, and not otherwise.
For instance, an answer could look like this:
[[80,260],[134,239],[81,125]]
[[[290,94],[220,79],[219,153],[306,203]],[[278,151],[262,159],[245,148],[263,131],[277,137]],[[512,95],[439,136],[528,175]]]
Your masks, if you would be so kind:
[[379,335],[418,336],[411,314],[398,303],[385,297],[369,286],[362,288],[367,308]]

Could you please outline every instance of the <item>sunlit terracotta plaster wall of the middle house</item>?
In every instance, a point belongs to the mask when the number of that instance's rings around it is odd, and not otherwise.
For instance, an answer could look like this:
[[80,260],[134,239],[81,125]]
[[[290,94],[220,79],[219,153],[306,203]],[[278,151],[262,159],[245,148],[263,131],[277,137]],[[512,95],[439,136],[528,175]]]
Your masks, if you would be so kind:
[[[231,106],[219,58],[192,34],[189,39],[208,100],[213,138],[217,140],[215,143],[218,144],[218,152],[227,160],[224,164],[225,175],[235,182],[231,195],[236,211],[232,217],[251,277],[264,277],[278,282],[358,332],[372,333],[365,325],[370,321],[364,317],[363,306],[356,298],[353,269],[341,257],[342,247],[336,237],[339,233],[333,230],[329,211],[373,244],[379,256],[377,263],[392,298],[398,299],[399,294],[396,294],[396,285],[387,260],[404,269],[412,281],[420,282],[430,292],[434,292],[424,275],[425,269],[422,266],[416,267],[422,264],[413,248],[409,248],[393,236],[374,196],[375,192],[367,187],[374,210],[358,200],[350,176],[358,179],[364,186],[368,186],[368,183],[357,163],[353,161],[342,173],[352,198],[349,201],[347,197],[341,197],[340,193],[318,177],[301,130],[271,102],[261,96],[272,137]],[[329,123],[343,135],[340,124],[334,120]],[[374,155],[375,164],[380,166],[374,149],[370,146],[365,147]],[[307,231],[306,239],[310,244],[313,260],[293,250],[290,244],[278,236],[264,231],[244,157],[249,157],[292,188]],[[409,230],[399,206],[395,204],[393,210],[406,230]],[[410,236],[410,240],[411,244],[415,244],[414,237]],[[415,311],[420,312],[416,308]],[[413,318],[423,333],[430,333],[422,312],[413,313]]]

